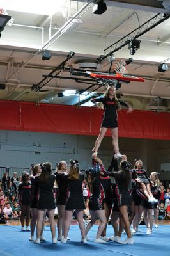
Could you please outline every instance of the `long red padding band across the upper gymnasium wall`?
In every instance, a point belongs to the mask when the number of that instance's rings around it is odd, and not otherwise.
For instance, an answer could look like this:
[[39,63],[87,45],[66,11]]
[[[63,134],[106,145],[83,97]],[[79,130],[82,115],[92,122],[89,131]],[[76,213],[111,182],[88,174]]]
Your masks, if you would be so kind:
[[[0,129],[98,135],[103,111],[96,108],[0,100]],[[118,113],[119,136],[170,140],[170,113]],[[108,132],[107,135],[110,135]]]

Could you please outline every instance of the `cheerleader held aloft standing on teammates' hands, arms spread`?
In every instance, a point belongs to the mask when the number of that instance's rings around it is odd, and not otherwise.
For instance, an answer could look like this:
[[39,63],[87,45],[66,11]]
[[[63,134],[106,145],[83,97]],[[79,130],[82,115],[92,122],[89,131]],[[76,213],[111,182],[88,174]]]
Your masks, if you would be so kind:
[[111,129],[112,134],[112,144],[114,147],[114,158],[121,158],[121,154],[119,152],[118,145],[118,113],[117,110],[120,109],[120,105],[128,108],[128,112],[132,112],[132,107],[129,106],[127,102],[118,100],[116,97],[116,88],[114,86],[108,86],[105,92],[105,96],[98,99],[91,99],[93,103],[102,102],[104,104],[104,115],[102,119],[102,125],[100,128],[100,133],[95,142],[95,147],[93,148],[93,152],[97,156],[98,148],[107,132],[107,129]]

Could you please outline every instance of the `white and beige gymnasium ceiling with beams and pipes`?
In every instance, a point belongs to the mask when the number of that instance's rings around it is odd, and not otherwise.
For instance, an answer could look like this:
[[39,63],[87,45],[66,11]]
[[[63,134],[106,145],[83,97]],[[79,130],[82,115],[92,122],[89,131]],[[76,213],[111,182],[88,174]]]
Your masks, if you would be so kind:
[[[66,62],[66,68],[83,68],[88,65],[91,70],[97,67],[97,71],[108,72],[108,58],[98,65],[95,63],[100,55],[108,53],[104,52],[105,48],[158,13],[159,19],[164,17],[164,13],[168,13],[162,6],[162,1],[157,0],[105,1],[107,11],[102,15],[93,14],[93,1],[63,0],[60,1],[62,4],[57,6],[55,4],[59,3],[59,0],[49,0],[49,6],[45,3],[45,10],[42,10],[43,1],[36,1],[41,3],[39,13],[35,4],[31,5],[31,1],[27,1],[29,6],[25,6],[27,12],[22,12],[21,6],[15,6],[17,11],[14,8],[12,10],[12,5],[5,8],[0,0],[0,8],[12,16],[10,26],[6,25],[1,32],[0,100],[77,104],[78,93],[64,97],[58,97],[58,93],[72,89],[76,92],[86,91],[92,82],[86,84],[77,79],[67,79],[76,78],[68,70],[60,70],[58,78],[51,79],[39,92],[31,90],[31,87],[40,83],[43,75],[49,74],[65,61],[71,51],[75,52],[75,55]],[[35,7],[29,10],[30,6]],[[59,33],[65,22],[69,22],[70,17],[78,12],[76,17],[81,20],[81,24],[76,28],[72,26],[72,29],[65,33]],[[133,58],[133,62],[127,65],[128,74],[144,77],[146,81],[123,83],[118,93],[121,99],[128,101],[135,109],[157,111],[159,106],[159,111],[170,111],[170,70],[158,72],[160,63],[167,63],[170,68],[170,18],[137,40],[141,40],[141,45],[133,56],[130,55],[128,45],[114,52],[114,56],[116,60]],[[45,49],[52,54],[50,60],[42,60],[42,51]],[[113,66],[111,71],[114,71]],[[97,85],[90,88],[84,95],[92,90],[95,90],[93,96],[102,95],[105,86],[98,87]],[[80,100],[86,102],[89,99],[80,96]]]

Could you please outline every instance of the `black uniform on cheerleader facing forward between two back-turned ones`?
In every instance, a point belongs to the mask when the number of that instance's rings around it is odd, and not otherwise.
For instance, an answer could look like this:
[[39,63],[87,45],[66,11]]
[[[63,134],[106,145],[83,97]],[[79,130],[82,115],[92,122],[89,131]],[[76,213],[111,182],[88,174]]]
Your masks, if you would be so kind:
[[56,198],[56,205],[65,205],[67,198],[67,176],[64,174],[54,173],[58,184],[58,194]]

